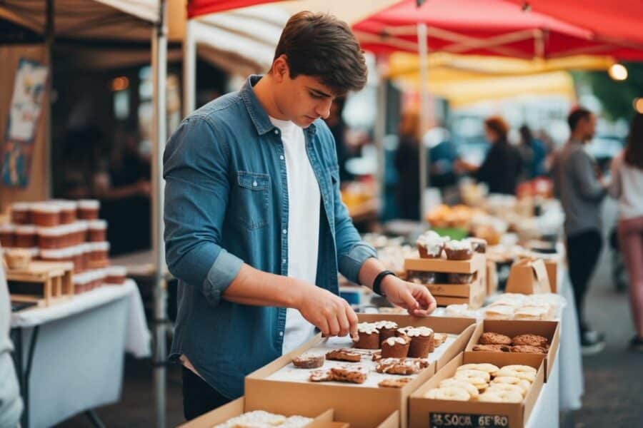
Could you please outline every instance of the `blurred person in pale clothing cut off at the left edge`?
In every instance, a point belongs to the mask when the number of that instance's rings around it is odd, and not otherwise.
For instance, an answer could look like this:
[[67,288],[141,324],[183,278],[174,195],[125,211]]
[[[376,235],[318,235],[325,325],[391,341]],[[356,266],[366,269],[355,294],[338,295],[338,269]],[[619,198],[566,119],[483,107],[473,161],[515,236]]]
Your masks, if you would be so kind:
[[11,359],[14,346],[9,338],[10,321],[9,289],[0,255],[0,427],[3,428],[18,427],[23,409],[14,361]]

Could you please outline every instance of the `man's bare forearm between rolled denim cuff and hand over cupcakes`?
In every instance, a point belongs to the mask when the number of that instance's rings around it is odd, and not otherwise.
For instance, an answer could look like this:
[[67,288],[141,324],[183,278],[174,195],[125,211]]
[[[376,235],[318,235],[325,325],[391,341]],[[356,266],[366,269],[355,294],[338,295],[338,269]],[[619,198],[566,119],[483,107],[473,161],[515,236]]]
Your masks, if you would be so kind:
[[302,281],[244,264],[222,298],[242,305],[296,307],[304,292],[306,284]]

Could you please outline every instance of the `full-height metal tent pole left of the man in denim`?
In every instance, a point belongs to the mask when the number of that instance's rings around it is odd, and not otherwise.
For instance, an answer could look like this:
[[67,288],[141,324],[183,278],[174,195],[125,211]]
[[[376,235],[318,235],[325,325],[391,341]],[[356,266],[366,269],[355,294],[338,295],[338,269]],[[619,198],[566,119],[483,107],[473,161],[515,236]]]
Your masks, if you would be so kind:
[[166,395],[166,282],[163,245],[163,151],[166,141],[167,21],[166,0],[159,0],[159,21],[152,35],[153,152],[152,152],[152,248],[154,250],[154,390],[156,427],[165,428]]

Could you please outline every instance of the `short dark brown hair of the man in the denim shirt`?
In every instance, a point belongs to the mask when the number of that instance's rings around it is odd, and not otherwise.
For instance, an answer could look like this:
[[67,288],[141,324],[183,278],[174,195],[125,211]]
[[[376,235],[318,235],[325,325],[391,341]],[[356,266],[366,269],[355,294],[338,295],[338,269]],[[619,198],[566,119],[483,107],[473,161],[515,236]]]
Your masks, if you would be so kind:
[[364,52],[344,21],[329,14],[302,11],[290,17],[274,59],[285,55],[290,78],[319,78],[334,95],[359,91],[367,82]]

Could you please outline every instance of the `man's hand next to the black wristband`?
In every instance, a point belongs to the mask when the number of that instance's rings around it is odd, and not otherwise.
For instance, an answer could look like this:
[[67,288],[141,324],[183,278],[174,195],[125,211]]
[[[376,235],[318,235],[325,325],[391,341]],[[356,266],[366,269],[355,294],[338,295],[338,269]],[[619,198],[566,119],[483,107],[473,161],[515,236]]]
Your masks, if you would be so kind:
[[414,317],[427,317],[437,307],[435,297],[424,285],[400,280],[387,275],[380,286],[389,302],[404,307]]

